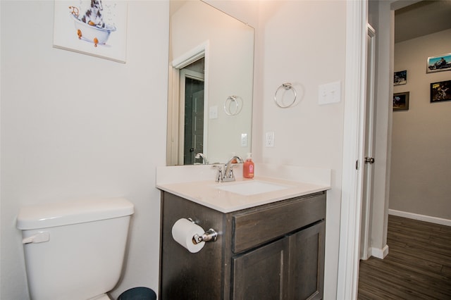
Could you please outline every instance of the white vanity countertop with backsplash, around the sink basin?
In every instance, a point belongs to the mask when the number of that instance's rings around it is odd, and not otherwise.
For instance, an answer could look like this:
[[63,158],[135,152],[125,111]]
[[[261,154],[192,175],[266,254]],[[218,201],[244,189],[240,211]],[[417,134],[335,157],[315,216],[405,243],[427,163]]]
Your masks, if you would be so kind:
[[[211,165],[159,167],[156,170],[156,187],[222,213],[330,189],[331,172],[328,169],[256,163],[255,172],[254,179],[243,178],[242,165],[236,165],[234,182],[215,182],[216,170]],[[252,181],[285,188],[251,195],[218,189]]]

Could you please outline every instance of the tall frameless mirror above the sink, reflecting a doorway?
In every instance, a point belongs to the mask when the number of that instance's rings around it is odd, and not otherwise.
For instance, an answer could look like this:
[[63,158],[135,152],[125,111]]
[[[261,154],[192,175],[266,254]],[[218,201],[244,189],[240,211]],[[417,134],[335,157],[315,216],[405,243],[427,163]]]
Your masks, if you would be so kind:
[[167,165],[245,157],[254,29],[202,1],[171,0],[170,20]]

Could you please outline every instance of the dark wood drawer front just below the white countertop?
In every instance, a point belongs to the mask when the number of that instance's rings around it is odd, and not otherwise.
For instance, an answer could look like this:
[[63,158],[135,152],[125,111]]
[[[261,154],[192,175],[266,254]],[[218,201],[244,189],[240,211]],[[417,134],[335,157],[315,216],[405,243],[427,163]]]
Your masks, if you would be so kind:
[[325,193],[234,215],[232,250],[240,253],[325,218]]

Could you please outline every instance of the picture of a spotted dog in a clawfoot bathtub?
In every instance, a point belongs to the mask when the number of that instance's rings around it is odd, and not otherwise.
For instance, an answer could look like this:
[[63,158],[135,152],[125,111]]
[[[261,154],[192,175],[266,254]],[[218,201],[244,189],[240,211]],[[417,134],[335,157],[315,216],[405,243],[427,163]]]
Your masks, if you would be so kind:
[[125,63],[127,1],[55,0],[54,47]]

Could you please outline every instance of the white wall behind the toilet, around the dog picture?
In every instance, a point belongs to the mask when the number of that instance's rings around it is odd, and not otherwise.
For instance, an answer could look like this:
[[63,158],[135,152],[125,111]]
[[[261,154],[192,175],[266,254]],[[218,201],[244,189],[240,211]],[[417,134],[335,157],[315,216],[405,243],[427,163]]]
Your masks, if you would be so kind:
[[129,1],[125,64],[52,48],[53,13],[54,1],[1,1],[0,298],[28,298],[20,206],[80,196],[135,204],[128,265],[113,296],[156,290],[168,1]]

